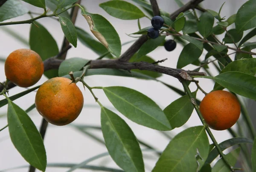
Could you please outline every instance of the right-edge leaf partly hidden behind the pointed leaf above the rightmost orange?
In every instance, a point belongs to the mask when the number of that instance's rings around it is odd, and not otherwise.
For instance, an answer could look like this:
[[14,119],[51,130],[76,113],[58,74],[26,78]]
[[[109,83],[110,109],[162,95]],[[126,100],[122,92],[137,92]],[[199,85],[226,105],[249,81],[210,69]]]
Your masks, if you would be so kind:
[[[236,71],[236,72],[243,72],[249,75],[256,75],[256,59],[242,59],[242,60],[235,60],[229,63],[224,69],[221,70],[221,73]],[[215,83],[214,90],[222,90],[224,89],[223,86],[220,86],[218,83]]]

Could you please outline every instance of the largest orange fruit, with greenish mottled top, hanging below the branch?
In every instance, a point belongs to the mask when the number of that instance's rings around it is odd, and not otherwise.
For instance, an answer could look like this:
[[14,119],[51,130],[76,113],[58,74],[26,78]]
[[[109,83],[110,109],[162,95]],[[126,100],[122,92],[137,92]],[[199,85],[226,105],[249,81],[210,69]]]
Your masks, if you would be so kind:
[[73,122],[84,105],[84,97],[76,83],[65,77],[54,77],[43,83],[35,95],[35,107],[49,122],[57,126]]

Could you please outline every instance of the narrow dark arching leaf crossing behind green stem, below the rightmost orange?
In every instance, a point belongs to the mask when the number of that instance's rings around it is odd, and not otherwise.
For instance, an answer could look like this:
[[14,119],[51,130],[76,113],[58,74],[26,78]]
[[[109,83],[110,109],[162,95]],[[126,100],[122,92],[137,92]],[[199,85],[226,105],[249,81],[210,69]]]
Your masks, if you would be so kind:
[[[230,148],[231,146],[237,145],[237,144],[243,144],[243,143],[250,143],[253,144],[253,140],[250,140],[248,138],[230,138],[228,140],[225,140],[221,143],[219,143],[219,146],[222,151],[224,151],[227,148]],[[209,156],[206,160],[206,163],[212,163],[212,161],[217,158],[219,155],[216,147],[212,149],[212,151],[209,153]]]

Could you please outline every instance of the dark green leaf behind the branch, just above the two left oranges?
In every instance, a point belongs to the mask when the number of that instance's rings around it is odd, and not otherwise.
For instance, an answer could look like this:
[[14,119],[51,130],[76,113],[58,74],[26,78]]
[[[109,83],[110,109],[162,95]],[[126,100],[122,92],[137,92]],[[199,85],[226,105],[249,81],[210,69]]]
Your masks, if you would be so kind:
[[[29,46],[30,49],[37,52],[42,60],[53,57],[59,53],[58,45],[52,35],[44,28],[40,23],[34,23],[38,26],[31,25],[29,34]],[[48,78],[57,77],[58,70],[49,70],[44,72]]]

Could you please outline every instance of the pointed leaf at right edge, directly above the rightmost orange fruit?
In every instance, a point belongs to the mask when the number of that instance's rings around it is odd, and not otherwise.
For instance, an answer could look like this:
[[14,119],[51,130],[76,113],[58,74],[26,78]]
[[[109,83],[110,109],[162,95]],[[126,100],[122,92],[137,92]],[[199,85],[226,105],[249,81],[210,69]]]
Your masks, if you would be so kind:
[[225,72],[214,77],[221,86],[238,95],[256,100],[256,77],[242,72]]

